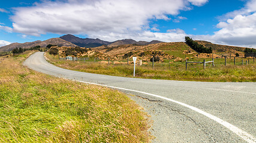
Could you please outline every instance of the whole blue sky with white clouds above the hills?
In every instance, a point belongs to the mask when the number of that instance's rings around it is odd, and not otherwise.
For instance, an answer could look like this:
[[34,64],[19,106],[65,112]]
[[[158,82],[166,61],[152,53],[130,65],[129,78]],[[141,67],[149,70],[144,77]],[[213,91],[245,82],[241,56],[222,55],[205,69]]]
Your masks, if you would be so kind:
[[190,36],[256,48],[256,0],[1,1],[0,46],[66,34],[164,42]]

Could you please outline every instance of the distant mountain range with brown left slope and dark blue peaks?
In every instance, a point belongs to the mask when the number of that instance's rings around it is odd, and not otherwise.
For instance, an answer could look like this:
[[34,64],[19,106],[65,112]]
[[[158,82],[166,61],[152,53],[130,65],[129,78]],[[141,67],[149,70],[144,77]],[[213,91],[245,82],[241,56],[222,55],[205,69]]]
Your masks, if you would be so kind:
[[46,47],[48,44],[58,45],[58,46],[81,46],[85,48],[94,48],[101,45],[107,46],[119,46],[125,44],[137,44],[137,45],[148,45],[152,43],[162,43],[161,41],[134,41],[132,39],[123,39],[115,42],[102,41],[101,39],[91,39],[91,38],[79,38],[74,35],[64,35],[60,38],[52,38],[46,41],[34,41],[26,43],[11,43],[10,45],[1,46],[0,51],[11,51],[15,48],[31,48],[34,46]]

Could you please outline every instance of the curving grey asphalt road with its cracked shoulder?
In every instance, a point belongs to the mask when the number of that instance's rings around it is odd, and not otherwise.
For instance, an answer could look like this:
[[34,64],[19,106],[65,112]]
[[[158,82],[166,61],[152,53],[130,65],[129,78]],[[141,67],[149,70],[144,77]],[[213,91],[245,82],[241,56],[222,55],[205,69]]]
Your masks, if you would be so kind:
[[31,55],[24,65],[135,95],[131,99],[153,120],[153,142],[256,142],[255,82],[185,82],[82,73],[47,63],[44,52]]

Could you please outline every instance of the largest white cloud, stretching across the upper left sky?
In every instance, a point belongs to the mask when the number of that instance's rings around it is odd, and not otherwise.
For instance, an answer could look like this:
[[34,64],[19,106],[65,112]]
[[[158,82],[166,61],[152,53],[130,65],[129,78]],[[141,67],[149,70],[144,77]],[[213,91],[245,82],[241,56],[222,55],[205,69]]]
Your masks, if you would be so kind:
[[[207,0],[43,1],[33,7],[15,8],[11,19],[13,31],[25,35],[132,35],[143,33],[150,20],[170,20],[168,15],[188,10],[190,4],[203,5],[205,2]],[[153,30],[158,31],[156,27]]]

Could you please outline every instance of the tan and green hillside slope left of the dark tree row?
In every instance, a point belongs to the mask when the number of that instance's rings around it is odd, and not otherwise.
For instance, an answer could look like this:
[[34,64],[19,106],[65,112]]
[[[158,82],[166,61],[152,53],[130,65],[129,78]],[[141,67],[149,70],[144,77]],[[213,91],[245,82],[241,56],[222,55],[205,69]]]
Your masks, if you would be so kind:
[[154,55],[159,57],[159,61],[164,59],[171,60],[173,58],[184,58],[186,54],[193,56],[197,54],[185,42],[171,42],[171,43],[155,43],[150,45],[119,45],[119,46],[99,46],[90,48],[86,54],[80,56],[98,57],[102,60],[122,60],[127,57],[140,57],[143,61],[150,61]]

